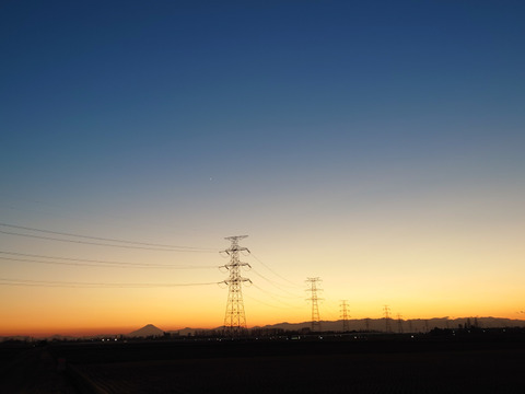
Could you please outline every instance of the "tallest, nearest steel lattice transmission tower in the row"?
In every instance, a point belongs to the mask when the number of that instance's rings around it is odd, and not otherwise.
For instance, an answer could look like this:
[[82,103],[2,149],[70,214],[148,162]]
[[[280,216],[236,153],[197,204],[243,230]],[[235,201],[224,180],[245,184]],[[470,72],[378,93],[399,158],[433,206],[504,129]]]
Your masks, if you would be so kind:
[[[238,252],[246,251],[247,247],[238,246],[238,241],[245,239],[248,235],[228,236],[224,240],[231,241],[230,248],[222,251],[230,256],[230,263],[222,266],[230,271],[230,276],[224,283],[228,285],[228,303],[226,314],[224,316],[224,331],[226,334],[235,336],[242,334],[246,329],[246,315],[244,314],[243,302],[243,282],[249,281],[247,278],[241,276],[241,267],[248,266],[248,263],[242,263],[238,259]],[[252,267],[249,267],[252,268]]]

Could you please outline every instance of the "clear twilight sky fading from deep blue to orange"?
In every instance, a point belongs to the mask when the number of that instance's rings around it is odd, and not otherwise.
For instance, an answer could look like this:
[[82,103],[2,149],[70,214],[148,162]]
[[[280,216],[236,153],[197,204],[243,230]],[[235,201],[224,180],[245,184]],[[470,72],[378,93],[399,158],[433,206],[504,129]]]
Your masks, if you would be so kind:
[[0,335],[221,326],[231,235],[248,327],[524,318],[524,18],[3,1]]

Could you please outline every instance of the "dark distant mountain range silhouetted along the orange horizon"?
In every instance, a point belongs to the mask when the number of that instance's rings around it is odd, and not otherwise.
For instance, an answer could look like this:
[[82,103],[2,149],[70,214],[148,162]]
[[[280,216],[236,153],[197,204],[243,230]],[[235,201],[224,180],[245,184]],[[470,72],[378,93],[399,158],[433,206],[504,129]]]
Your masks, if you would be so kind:
[[[433,318],[410,318],[410,320],[397,320],[389,318],[386,322],[385,318],[359,318],[359,320],[348,320],[348,331],[373,331],[373,332],[385,332],[389,329],[390,332],[398,333],[425,333],[432,328],[458,328],[458,327],[480,327],[480,328],[499,328],[499,327],[525,327],[524,320],[517,318],[500,318],[500,317],[433,317]],[[312,322],[302,322],[302,323],[278,323],[270,324],[266,326],[255,326],[252,329],[284,329],[284,331],[301,331],[310,328]],[[222,327],[217,327],[214,329],[221,329]],[[320,322],[322,331],[331,331],[340,332],[342,331],[342,320],[339,321],[322,321]],[[178,331],[168,331],[166,333],[187,336],[194,335],[196,332],[208,332],[212,329],[208,328],[190,328],[186,327]],[[136,329],[129,334],[118,334],[125,337],[139,338],[139,337],[151,337],[151,336],[163,336],[164,331],[154,326],[153,324],[147,324],[142,328]],[[117,334],[101,334],[93,335],[88,338],[103,338],[103,337],[116,337]],[[58,339],[58,340],[72,340],[77,339],[71,336],[62,335],[52,335],[49,337],[30,337],[30,336],[3,336],[0,337],[0,341],[4,340],[35,340],[35,339]]]

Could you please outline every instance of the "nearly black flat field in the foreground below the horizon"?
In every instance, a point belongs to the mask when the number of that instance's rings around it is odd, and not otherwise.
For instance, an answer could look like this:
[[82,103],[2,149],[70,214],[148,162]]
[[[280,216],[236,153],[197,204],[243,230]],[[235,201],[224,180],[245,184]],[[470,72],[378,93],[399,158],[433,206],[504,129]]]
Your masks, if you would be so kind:
[[16,362],[2,393],[525,393],[523,340],[55,344]]

